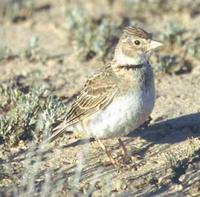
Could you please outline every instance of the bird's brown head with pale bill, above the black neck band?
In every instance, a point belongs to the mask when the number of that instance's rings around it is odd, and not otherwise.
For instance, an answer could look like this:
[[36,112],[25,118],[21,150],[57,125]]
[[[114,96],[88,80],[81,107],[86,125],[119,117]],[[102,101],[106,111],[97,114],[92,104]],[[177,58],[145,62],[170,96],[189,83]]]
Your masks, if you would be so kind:
[[115,50],[114,59],[120,65],[139,65],[148,61],[151,53],[162,44],[138,27],[127,27]]

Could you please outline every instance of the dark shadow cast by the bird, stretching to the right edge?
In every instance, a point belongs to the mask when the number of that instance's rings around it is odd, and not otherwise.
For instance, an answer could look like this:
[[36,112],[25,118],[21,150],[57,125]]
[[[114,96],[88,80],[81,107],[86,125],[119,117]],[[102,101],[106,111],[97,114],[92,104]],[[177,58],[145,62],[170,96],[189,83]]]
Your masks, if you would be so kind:
[[128,136],[141,137],[157,144],[173,144],[197,137],[200,136],[200,113],[155,122],[145,129],[132,131]]

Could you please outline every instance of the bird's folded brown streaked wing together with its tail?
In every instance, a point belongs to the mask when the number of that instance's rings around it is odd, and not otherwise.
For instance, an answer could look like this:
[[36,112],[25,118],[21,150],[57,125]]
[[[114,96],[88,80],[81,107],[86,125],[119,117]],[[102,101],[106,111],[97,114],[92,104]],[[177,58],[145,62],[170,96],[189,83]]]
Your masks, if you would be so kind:
[[54,129],[56,131],[48,141],[53,141],[62,135],[68,126],[78,123],[108,106],[117,92],[118,86],[115,75],[111,67],[107,66],[102,72],[87,80],[84,88],[72,104],[65,121],[61,123],[62,126],[59,125]]

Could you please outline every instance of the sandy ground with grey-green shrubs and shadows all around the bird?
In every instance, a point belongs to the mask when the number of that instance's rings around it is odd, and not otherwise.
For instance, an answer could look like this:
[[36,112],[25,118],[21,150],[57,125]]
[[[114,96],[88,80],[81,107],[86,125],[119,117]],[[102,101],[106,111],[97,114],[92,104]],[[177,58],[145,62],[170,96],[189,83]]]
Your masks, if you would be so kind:
[[[1,196],[200,196],[198,1],[0,5]],[[116,168],[97,142],[70,133],[43,145],[128,24],[164,44],[151,59],[152,121],[122,138],[131,161]],[[117,139],[104,143],[121,161]]]

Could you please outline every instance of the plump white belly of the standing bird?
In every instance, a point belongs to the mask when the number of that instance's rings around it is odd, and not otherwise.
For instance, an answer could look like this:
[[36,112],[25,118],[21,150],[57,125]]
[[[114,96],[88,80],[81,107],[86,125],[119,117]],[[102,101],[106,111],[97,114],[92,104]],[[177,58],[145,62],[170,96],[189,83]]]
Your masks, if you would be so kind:
[[127,135],[147,120],[153,106],[154,90],[130,92],[90,116],[83,132],[95,138]]

